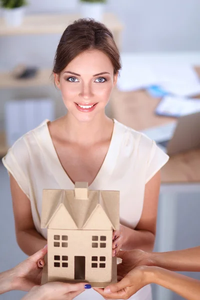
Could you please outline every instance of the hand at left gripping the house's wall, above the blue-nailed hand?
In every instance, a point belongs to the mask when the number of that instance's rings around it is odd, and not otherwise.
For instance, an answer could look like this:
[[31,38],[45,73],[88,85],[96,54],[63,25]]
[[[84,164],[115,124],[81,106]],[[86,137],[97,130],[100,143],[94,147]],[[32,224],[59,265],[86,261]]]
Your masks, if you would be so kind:
[[12,289],[28,291],[40,284],[46,253],[47,247],[44,247],[10,270]]

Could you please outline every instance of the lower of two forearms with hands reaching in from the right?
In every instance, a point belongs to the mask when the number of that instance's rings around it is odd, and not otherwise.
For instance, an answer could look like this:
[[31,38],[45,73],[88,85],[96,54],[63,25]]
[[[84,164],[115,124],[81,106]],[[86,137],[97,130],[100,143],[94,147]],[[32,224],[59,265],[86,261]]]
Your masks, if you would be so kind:
[[138,266],[125,277],[103,289],[96,289],[106,299],[128,299],[143,286],[155,283],[187,300],[198,300],[200,281],[156,266]]

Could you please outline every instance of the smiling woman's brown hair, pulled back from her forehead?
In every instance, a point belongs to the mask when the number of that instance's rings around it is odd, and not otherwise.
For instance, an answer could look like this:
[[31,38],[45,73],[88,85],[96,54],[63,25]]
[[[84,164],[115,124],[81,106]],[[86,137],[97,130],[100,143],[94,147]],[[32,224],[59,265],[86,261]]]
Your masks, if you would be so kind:
[[85,50],[104,52],[114,67],[114,74],[121,69],[120,54],[111,31],[94,19],[75,20],[64,30],[54,58],[53,73],[59,74],[66,65]]

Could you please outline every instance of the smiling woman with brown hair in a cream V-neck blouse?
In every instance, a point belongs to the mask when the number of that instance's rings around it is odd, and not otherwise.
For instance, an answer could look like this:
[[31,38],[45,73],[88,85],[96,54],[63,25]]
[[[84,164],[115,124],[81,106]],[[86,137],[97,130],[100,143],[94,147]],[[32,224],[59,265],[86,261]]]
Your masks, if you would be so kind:
[[[42,189],[73,189],[75,181],[120,191],[113,255],[120,248],[152,250],[159,169],[168,156],[145,135],[105,115],[120,68],[112,33],[103,24],[79,19],[65,29],[53,75],[67,113],[23,135],[2,160],[10,174],[16,238],[25,253],[46,243],[40,228]],[[151,298],[149,286],[139,293],[140,299]]]

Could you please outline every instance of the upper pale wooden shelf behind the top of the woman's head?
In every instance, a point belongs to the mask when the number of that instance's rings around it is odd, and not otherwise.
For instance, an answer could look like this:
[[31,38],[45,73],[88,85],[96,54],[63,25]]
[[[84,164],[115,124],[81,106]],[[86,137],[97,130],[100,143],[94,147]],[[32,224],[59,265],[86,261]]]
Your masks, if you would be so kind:
[[[0,35],[62,33],[69,23],[80,18],[79,14],[29,14],[24,16],[18,27],[8,27],[0,18]],[[112,13],[105,13],[103,23],[112,31],[120,31],[123,26]]]

